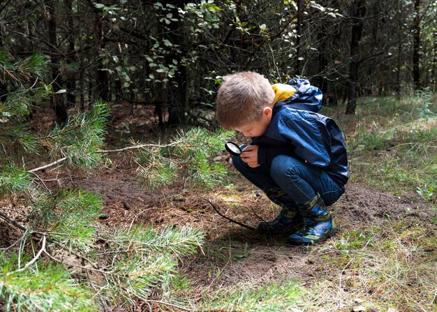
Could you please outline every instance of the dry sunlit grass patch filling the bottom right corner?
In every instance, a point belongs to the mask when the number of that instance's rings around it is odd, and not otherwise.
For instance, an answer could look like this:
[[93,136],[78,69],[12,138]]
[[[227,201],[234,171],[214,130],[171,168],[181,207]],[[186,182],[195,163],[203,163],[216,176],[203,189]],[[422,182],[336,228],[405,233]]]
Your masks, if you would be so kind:
[[318,251],[314,269],[327,274],[309,289],[307,311],[352,311],[358,304],[435,311],[437,235],[431,225],[376,224],[344,233]]

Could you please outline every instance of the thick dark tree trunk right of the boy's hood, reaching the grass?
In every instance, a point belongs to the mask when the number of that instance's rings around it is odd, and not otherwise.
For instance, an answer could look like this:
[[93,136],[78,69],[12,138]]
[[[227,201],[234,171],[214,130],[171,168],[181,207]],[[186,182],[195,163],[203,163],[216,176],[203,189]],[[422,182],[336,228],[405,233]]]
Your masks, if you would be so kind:
[[355,114],[357,107],[358,67],[360,66],[360,39],[363,29],[362,18],[366,15],[366,1],[356,0],[353,5],[353,27],[350,40],[350,64],[348,84],[348,104],[346,114]]

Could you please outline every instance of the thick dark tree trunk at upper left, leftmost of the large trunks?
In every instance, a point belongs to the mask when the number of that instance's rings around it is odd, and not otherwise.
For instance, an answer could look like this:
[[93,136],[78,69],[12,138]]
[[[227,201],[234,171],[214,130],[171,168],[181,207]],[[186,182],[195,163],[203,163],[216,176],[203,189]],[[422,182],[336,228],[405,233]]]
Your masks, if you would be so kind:
[[[61,55],[59,54],[59,40],[57,34],[57,16],[56,16],[56,3],[55,0],[45,0],[45,6],[47,7],[47,19],[48,19],[48,31],[49,41],[52,46],[52,81],[54,85],[54,91],[57,89],[63,89],[64,82],[62,81],[60,69]],[[67,107],[64,101],[63,94],[54,94],[52,96],[52,104],[54,107],[55,121],[57,124],[64,124],[68,119]]]

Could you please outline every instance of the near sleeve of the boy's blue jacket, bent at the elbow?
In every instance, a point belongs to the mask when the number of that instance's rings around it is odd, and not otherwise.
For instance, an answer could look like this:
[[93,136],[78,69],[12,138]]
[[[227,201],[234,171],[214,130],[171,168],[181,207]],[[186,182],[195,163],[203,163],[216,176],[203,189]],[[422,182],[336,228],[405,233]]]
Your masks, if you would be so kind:
[[258,163],[272,163],[277,155],[293,154],[305,163],[326,167],[331,163],[332,152],[329,132],[323,122],[312,118],[287,118],[279,120],[277,135],[287,142],[287,147],[261,145],[258,147]]

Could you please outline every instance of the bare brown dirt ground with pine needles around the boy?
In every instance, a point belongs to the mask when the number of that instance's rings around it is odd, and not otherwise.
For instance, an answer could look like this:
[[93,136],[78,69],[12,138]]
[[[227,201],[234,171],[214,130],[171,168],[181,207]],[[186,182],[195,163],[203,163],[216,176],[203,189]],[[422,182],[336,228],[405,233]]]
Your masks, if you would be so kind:
[[[110,121],[109,147],[126,144],[130,135],[147,142],[158,133],[150,112],[143,112],[140,108],[133,119],[126,108],[113,107],[113,110],[117,110],[117,114]],[[147,118],[149,123],[143,122]],[[34,129],[47,128],[51,119],[50,110],[46,110],[45,114],[34,116],[32,125]],[[224,153],[223,161],[229,165],[230,183],[234,186],[199,195],[212,200],[223,214],[247,225],[256,226],[260,222],[253,211],[265,220],[274,218],[279,210],[233,171]],[[184,193],[179,186],[148,193],[138,182],[135,168],[126,156],[116,156],[108,168],[85,176],[62,170],[40,174],[45,179],[55,178],[50,182],[52,187],[81,187],[101,194],[103,213],[108,216],[98,221],[102,226],[112,228],[141,223],[155,227],[189,225],[202,229],[206,235],[202,250],[180,263],[182,271],[201,290],[196,294],[198,296],[223,285],[262,285],[285,279],[311,284],[320,275],[331,274],[315,265],[324,244],[330,244],[329,240],[318,246],[290,246],[286,237],[272,237],[230,223],[218,216],[204,198],[195,192]],[[336,235],[343,235],[357,225],[383,224],[401,218],[410,218],[412,223],[425,221],[431,214],[427,207],[427,202],[415,193],[391,195],[350,181],[346,193],[331,207],[331,211],[339,229]],[[14,241],[15,234],[2,224],[0,232],[6,241]]]

